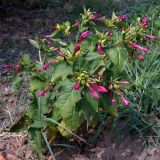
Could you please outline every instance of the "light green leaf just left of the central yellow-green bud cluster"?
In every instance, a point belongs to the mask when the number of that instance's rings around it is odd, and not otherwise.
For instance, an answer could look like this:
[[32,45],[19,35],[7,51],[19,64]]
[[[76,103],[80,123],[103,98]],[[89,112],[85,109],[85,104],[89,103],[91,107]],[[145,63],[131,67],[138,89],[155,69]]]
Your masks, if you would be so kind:
[[57,79],[65,79],[68,75],[72,74],[72,68],[65,62],[58,63],[52,74],[51,82]]

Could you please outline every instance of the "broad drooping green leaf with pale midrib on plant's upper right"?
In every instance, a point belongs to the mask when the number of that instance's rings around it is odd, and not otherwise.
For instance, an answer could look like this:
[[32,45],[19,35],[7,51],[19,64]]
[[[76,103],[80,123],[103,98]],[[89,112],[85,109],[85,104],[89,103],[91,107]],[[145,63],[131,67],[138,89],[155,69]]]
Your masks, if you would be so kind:
[[112,63],[114,64],[114,73],[121,73],[124,70],[128,60],[128,52],[126,48],[121,46],[111,49],[109,51],[109,56],[111,58]]

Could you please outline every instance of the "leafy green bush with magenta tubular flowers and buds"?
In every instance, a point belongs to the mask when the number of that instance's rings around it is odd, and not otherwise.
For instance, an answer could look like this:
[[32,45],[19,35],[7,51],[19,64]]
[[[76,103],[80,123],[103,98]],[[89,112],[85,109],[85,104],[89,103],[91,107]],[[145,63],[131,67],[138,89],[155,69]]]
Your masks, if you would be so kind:
[[147,33],[148,17],[134,24],[127,19],[115,14],[106,19],[85,9],[79,21],[57,24],[51,34],[30,40],[39,51],[39,62],[31,63],[25,54],[18,65],[2,66],[17,69],[16,82],[28,77],[32,101],[23,128],[36,135],[43,129],[48,137],[68,137],[68,131],[85,121],[97,124],[101,112],[116,116],[118,106],[130,105],[123,70],[128,61],[143,61],[148,40],[158,38]]

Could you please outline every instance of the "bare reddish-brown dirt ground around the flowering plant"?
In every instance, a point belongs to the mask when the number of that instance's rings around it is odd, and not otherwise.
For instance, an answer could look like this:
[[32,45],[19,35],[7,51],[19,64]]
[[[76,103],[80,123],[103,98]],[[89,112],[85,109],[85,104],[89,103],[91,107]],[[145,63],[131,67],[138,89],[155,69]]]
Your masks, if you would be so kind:
[[[48,33],[48,26],[67,19],[61,10],[1,9],[0,65],[16,63],[25,51],[36,57],[34,49],[28,47],[28,38]],[[11,88],[11,76],[12,72],[0,70],[0,160],[50,160],[48,153],[37,158],[26,133],[8,132],[25,113],[26,93],[18,95]],[[107,123],[91,146],[53,148],[53,152],[57,160],[160,160],[160,148],[145,148],[140,138],[129,135],[117,144],[113,132]]]

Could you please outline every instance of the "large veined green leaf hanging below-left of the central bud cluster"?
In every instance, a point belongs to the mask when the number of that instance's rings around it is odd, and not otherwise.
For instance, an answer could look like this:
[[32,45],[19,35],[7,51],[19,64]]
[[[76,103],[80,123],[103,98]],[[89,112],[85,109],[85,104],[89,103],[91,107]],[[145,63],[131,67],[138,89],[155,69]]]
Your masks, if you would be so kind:
[[59,92],[60,96],[57,98],[55,105],[59,108],[61,116],[66,118],[75,110],[75,104],[81,99],[80,90],[73,89],[74,83],[66,80]]

